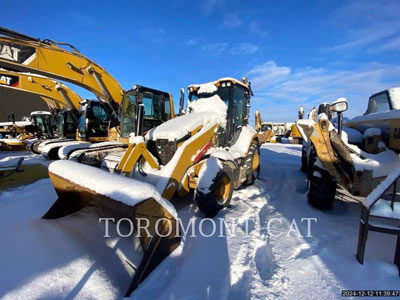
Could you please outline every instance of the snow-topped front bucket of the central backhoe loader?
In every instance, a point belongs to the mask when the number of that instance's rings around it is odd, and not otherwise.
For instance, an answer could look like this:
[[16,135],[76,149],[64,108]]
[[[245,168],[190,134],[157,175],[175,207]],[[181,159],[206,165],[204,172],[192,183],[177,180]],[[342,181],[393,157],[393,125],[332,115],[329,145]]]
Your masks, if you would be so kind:
[[[180,245],[176,211],[154,186],[68,160],[51,163],[49,176],[59,198],[44,219],[67,216],[92,203],[101,217],[129,218],[135,225],[143,257],[126,296]],[[137,226],[139,221],[147,226]]]

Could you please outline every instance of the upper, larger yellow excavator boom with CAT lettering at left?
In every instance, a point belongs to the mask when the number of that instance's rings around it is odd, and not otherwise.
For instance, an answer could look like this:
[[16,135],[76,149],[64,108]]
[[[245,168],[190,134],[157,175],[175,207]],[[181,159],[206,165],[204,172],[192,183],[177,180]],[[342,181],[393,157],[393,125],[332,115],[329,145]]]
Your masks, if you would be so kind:
[[[61,46],[69,46],[72,51]],[[118,81],[66,43],[40,40],[0,27],[0,67],[79,85],[108,102],[114,110],[122,101],[123,89]]]

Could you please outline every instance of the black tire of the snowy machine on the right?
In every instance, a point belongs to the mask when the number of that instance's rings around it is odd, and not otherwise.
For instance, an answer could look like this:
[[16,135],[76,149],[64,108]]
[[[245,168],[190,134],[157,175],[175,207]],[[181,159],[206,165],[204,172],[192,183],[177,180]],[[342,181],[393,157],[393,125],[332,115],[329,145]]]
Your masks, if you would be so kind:
[[326,170],[316,166],[313,169],[313,173],[310,174],[308,202],[318,209],[332,209],[336,194],[336,180]]

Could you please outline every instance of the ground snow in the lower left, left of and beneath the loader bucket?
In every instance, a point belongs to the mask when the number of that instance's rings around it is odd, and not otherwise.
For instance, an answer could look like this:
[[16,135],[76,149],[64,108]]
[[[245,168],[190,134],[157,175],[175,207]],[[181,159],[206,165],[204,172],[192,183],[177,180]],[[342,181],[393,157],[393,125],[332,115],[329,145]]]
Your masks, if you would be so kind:
[[138,239],[118,237],[113,224],[104,237],[89,213],[41,219],[57,199],[50,179],[0,199],[2,300],[122,299],[133,273],[126,260],[138,266],[143,255]]

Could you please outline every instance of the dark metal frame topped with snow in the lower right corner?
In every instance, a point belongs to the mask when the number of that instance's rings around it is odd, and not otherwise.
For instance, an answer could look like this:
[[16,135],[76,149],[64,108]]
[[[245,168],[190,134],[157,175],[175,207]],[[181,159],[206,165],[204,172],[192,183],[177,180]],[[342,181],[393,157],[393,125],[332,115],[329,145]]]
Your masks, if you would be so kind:
[[400,276],[400,202],[398,180],[400,167],[390,173],[363,201],[360,231],[358,235],[357,260],[364,263],[368,231],[397,236],[394,263]]

